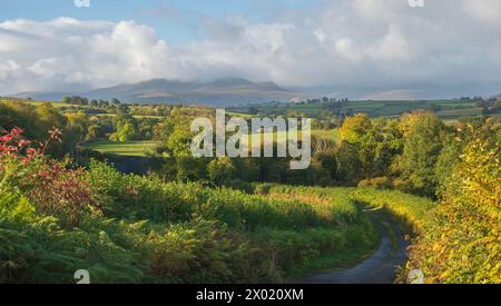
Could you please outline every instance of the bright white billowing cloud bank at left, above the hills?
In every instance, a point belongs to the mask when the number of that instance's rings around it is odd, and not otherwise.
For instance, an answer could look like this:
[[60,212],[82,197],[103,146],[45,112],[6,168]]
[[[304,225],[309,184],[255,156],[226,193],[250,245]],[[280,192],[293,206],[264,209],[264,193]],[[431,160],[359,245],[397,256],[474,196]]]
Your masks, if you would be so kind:
[[132,21],[0,23],[1,92],[87,89],[176,77],[167,43]]

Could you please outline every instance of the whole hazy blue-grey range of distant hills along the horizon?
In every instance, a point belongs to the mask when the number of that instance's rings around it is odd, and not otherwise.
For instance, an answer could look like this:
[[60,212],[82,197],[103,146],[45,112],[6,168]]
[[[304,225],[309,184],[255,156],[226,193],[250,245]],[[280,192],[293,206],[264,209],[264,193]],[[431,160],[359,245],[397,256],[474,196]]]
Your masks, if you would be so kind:
[[459,97],[492,97],[501,92],[501,82],[461,83],[441,86],[435,83],[400,85],[395,88],[372,87],[311,87],[283,88],[274,82],[253,82],[240,78],[213,81],[179,81],[153,79],[137,83],[87,91],[22,92],[17,98],[60,101],[63,96],[82,96],[89,99],[117,98],[138,103],[184,103],[210,107],[254,105],[268,101],[298,101],[310,98],[332,97],[355,100],[433,100]]

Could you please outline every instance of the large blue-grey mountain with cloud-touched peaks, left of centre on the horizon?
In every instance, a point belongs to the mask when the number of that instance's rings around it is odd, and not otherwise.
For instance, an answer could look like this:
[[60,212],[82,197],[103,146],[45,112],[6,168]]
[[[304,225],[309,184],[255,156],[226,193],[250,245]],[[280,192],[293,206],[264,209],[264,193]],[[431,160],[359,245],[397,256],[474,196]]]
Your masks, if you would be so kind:
[[302,98],[301,93],[284,89],[274,82],[252,82],[237,78],[208,82],[154,79],[81,92],[22,92],[14,97],[61,100],[63,96],[84,96],[89,99],[107,100],[117,98],[121,101],[139,103],[191,103],[214,107],[261,103],[272,100],[291,101]]

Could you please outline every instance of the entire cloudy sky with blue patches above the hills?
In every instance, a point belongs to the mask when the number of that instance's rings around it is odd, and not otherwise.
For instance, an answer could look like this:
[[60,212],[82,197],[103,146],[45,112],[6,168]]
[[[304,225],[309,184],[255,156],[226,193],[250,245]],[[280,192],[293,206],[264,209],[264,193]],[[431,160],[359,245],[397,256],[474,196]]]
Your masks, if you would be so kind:
[[0,95],[154,78],[501,83],[501,1],[415,1],[0,0]]

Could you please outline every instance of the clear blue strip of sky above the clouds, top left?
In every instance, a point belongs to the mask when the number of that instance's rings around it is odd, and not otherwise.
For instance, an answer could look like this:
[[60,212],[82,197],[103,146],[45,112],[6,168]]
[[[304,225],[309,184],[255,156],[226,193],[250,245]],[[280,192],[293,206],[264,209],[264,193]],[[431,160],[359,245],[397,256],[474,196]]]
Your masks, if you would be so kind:
[[[77,0],[78,1],[78,0]],[[84,1],[81,1],[84,3]],[[273,21],[284,9],[301,9],[317,0],[90,0],[78,7],[73,0],[0,0],[0,20],[52,20],[71,17],[78,20],[134,20],[154,28],[160,39],[170,43],[188,42],[204,37],[204,18],[224,19],[242,16],[254,22]]]

